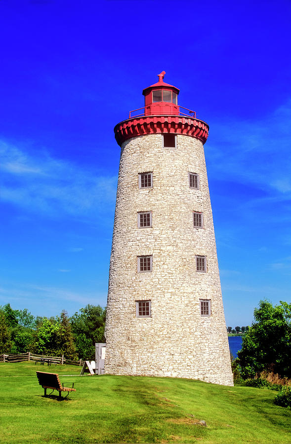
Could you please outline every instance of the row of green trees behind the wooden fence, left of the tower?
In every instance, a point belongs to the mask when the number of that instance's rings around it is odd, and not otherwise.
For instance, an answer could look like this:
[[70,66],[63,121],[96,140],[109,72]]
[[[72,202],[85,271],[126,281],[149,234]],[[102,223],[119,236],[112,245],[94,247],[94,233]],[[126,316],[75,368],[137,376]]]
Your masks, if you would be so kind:
[[95,342],[105,342],[106,308],[86,305],[68,317],[34,317],[26,308],[0,306],[0,354],[28,351],[67,359],[95,359]]

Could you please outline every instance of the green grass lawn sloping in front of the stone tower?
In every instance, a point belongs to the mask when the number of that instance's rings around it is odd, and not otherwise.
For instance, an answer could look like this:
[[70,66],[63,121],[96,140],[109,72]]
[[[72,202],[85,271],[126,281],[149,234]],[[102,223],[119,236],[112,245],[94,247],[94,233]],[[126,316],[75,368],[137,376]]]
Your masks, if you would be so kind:
[[[77,391],[64,401],[44,398],[36,370],[59,373]],[[0,443],[291,443],[291,410],[273,403],[274,391],[79,373],[0,363]]]

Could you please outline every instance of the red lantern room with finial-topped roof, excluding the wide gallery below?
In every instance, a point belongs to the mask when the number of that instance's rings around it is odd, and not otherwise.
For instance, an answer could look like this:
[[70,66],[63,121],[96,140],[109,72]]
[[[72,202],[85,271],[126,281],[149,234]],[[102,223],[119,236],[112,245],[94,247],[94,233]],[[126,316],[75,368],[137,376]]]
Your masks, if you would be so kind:
[[143,90],[144,115],[179,115],[177,97],[179,89],[164,82],[165,71],[158,74],[159,81]]

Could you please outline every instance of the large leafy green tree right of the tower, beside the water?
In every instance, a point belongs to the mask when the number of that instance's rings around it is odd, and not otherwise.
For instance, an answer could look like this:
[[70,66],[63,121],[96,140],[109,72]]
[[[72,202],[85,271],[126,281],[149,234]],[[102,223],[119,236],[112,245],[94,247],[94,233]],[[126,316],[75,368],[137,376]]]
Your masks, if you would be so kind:
[[243,378],[262,370],[291,377],[291,304],[280,301],[273,306],[267,300],[254,309],[255,322],[243,336],[238,352]]

